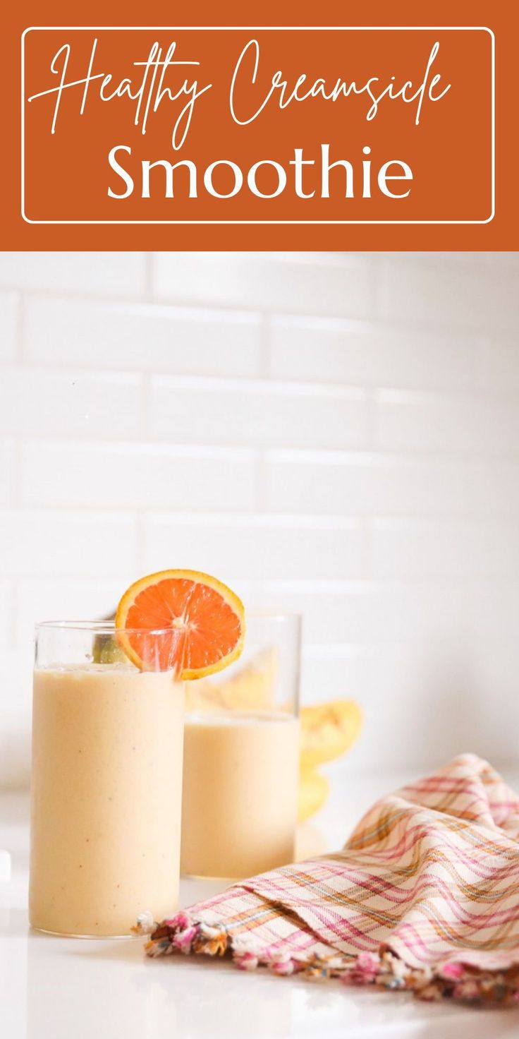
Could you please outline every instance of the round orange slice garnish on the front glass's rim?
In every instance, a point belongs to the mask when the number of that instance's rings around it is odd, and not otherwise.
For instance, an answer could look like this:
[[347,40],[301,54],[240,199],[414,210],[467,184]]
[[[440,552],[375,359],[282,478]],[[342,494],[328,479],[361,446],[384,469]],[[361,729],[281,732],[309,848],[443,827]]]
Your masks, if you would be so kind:
[[202,678],[240,656],[245,610],[238,595],[209,574],[161,570],[125,592],[115,629],[119,645],[141,670],[171,669],[182,678]]

